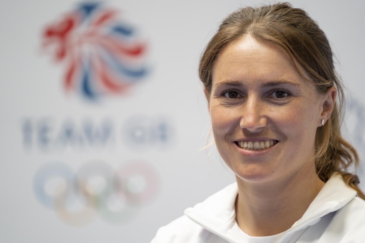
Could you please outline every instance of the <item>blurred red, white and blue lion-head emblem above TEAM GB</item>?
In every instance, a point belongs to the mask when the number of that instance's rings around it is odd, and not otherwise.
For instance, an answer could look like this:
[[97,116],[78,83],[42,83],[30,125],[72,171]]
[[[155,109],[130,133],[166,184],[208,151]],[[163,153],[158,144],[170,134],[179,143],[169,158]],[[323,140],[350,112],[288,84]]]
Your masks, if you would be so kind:
[[95,100],[124,93],[148,74],[146,42],[120,16],[101,3],[82,3],[45,28],[42,47],[55,48],[55,60],[66,66],[66,91]]

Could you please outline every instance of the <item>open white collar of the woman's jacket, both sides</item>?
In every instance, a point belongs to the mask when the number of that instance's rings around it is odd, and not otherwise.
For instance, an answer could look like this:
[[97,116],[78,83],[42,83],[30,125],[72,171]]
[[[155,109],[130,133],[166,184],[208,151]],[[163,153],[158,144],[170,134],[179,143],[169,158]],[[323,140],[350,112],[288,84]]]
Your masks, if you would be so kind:
[[[286,232],[295,232],[317,223],[327,213],[334,212],[356,196],[356,191],[348,187],[338,173],[334,173],[304,212],[301,219]],[[229,239],[226,232],[235,223],[235,200],[238,195],[237,182],[185,209],[184,213],[203,228]]]

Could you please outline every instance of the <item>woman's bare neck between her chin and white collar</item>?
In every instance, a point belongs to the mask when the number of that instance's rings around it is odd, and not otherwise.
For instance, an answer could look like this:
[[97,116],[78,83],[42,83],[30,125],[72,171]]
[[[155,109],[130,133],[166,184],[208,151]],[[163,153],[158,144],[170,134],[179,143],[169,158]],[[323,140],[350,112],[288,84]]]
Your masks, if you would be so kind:
[[237,177],[236,220],[250,236],[276,235],[303,216],[324,182],[312,173],[263,183],[248,183]]

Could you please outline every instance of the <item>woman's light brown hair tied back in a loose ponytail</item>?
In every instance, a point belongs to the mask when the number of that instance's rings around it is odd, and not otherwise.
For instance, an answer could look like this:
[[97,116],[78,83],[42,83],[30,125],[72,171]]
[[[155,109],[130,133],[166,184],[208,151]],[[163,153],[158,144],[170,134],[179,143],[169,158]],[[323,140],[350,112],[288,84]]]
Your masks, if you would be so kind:
[[[208,93],[212,89],[216,57],[229,43],[245,34],[270,40],[283,47],[293,63],[299,63],[309,74],[310,79],[306,80],[316,86],[319,94],[326,94],[330,87],[336,87],[338,95],[331,117],[316,131],[316,172],[324,182],[335,172],[341,174],[345,183],[365,199],[358,187],[358,176],[348,172],[351,166],[358,167],[359,157],[356,149],[341,136],[345,97],[335,71],[333,52],[324,32],[304,10],[293,8],[289,3],[238,9],[223,20],[201,55],[199,77]],[[300,72],[299,67],[297,69]]]

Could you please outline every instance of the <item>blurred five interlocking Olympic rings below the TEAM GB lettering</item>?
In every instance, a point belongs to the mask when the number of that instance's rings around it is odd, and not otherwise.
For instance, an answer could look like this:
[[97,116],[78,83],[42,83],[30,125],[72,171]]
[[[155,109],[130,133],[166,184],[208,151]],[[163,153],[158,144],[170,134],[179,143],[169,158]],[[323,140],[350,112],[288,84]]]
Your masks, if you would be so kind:
[[70,224],[90,222],[97,213],[110,223],[122,224],[155,198],[159,178],[156,169],[142,161],[123,163],[117,169],[93,161],[76,173],[64,163],[52,162],[35,173],[33,189],[42,205]]

